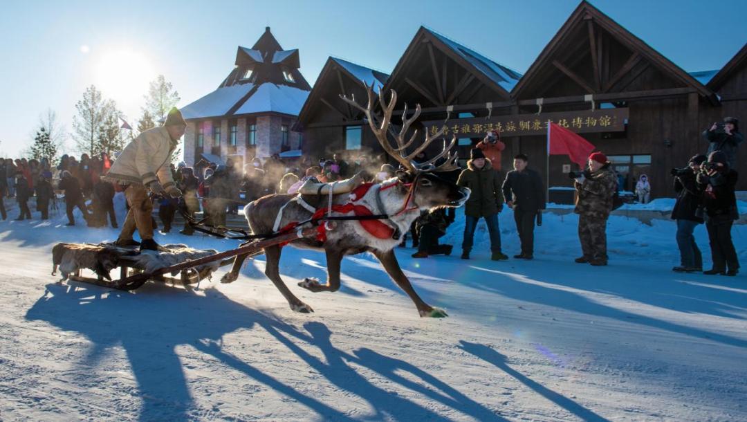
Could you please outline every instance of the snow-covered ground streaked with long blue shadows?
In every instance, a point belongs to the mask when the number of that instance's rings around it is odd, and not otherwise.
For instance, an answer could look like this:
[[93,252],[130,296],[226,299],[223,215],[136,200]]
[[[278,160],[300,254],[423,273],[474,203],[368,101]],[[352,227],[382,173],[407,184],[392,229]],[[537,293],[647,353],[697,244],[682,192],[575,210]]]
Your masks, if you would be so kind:
[[[0,222],[1,421],[747,421],[745,276],[672,273],[669,221],[613,217],[608,267],[574,264],[572,214],[545,214],[534,261],[490,261],[483,223],[471,261],[398,249],[450,314],[433,320],[366,255],[344,260],[337,293],[298,288],[324,257],[293,248],[281,271],[314,314],[288,308],[262,257],[195,291],[57,285],[52,245],[117,235],[61,214]],[[500,224],[513,255],[510,211]],[[734,239],[747,262],[747,226]]]

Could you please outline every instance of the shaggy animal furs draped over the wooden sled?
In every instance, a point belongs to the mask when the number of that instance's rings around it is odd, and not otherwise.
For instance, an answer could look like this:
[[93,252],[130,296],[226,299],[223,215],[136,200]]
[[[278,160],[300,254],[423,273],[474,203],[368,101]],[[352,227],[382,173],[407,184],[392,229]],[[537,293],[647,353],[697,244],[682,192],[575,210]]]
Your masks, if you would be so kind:
[[[215,249],[193,249],[182,244],[163,246],[168,252],[146,250],[137,252],[134,249],[121,248],[108,244],[91,245],[87,243],[58,243],[52,248],[52,276],[59,267],[62,280],[68,279],[71,273],[87,268],[111,281],[109,271],[121,265],[137,268],[152,273],[164,267],[170,267],[185,261],[213,255]],[[202,276],[209,276],[220,267],[220,261],[195,267]],[[173,274],[173,275],[176,275]]]

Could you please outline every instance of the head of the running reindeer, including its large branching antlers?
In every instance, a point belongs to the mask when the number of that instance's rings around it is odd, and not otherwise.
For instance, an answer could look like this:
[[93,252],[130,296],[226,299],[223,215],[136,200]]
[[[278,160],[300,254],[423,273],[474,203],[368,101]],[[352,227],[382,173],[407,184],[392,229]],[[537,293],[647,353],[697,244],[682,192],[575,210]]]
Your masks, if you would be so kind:
[[[438,172],[448,172],[459,170],[459,166],[456,165],[456,160],[459,158],[456,152],[450,152],[453,146],[456,145],[456,135],[452,137],[451,142],[446,145],[444,143],[444,149],[441,150],[438,155],[431,158],[424,163],[415,163],[412,161],[413,158],[417,157],[421,152],[436,140],[438,137],[444,134],[444,128],[437,131],[435,134],[428,134],[426,131],[425,140],[419,146],[417,146],[409,155],[407,155],[407,148],[415,143],[418,138],[418,131],[415,130],[409,140],[406,140],[407,131],[409,131],[410,125],[421,114],[421,106],[418,104],[415,106],[415,113],[412,117],[407,117],[407,105],[405,105],[402,114],[402,128],[397,134],[391,129],[391,114],[394,112],[394,106],[397,105],[397,93],[391,90],[389,101],[387,102],[384,98],[384,93],[379,90],[379,105],[382,108],[382,117],[376,117],[373,113],[373,85],[363,83],[366,93],[368,94],[368,104],[364,108],[356,102],[354,97],[347,98],[347,96],[341,96],[341,99],[347,104],[358,108],[365,114],[368,125],[371,126],[371,131],[379,140],[384,151],[397,160],[400,163],[400,170],[397,170],[397,179],[401,184],[404,184],[409,189],[409,195],[412,198],[409,199],[421,210],[428,208],[437,207],[459,207],[464,204],[470,195],[470,190],[466,187],[459,187],[451,181],[442,179],[436,176]],[[394,137],[397,146],[392,146],[388,134]]]

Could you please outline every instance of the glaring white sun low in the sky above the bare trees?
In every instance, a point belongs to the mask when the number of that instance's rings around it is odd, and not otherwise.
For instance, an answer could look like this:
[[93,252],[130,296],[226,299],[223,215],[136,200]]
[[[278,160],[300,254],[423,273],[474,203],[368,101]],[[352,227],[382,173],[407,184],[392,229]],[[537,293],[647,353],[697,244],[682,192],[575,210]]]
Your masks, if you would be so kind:
[[140,107],[150,81],[156,78],[148,58],[131,49],[104,52],[95,72],[96,87],[123,109]]

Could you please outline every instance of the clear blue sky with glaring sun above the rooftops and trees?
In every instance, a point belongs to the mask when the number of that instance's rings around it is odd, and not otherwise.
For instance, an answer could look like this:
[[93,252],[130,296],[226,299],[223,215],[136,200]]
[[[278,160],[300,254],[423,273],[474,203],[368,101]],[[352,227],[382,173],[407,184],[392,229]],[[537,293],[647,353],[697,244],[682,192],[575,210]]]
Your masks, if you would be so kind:
[[[689,72],[719,69],[747,41],[747,1],[592,4]],[[0,14],[0,156],[18,155],[28,145],[47,108],[72,131],[75,102],[90,84],[115,99],[131,122],[140,114],[142,79],[151,75],[173,82],[180,105],[192,102],[228,75],[236,47],[252,46],[268,25],[283,48],[300,49],[300,70],[310,84],[329,55],[391,71],[420,25],[524,72],[577,5],[6,0]],[[117,59],[138,64],[118,66]]]

